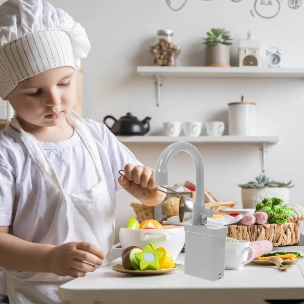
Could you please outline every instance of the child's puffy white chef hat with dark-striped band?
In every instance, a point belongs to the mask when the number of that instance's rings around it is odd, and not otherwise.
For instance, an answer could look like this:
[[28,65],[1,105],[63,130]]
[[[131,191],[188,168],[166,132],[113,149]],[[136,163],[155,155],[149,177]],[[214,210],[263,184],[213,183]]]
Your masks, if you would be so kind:
[[0,5],[0,97],[19,81],[56,67],[78,71],[91,46],[85,29],[43,0]]

